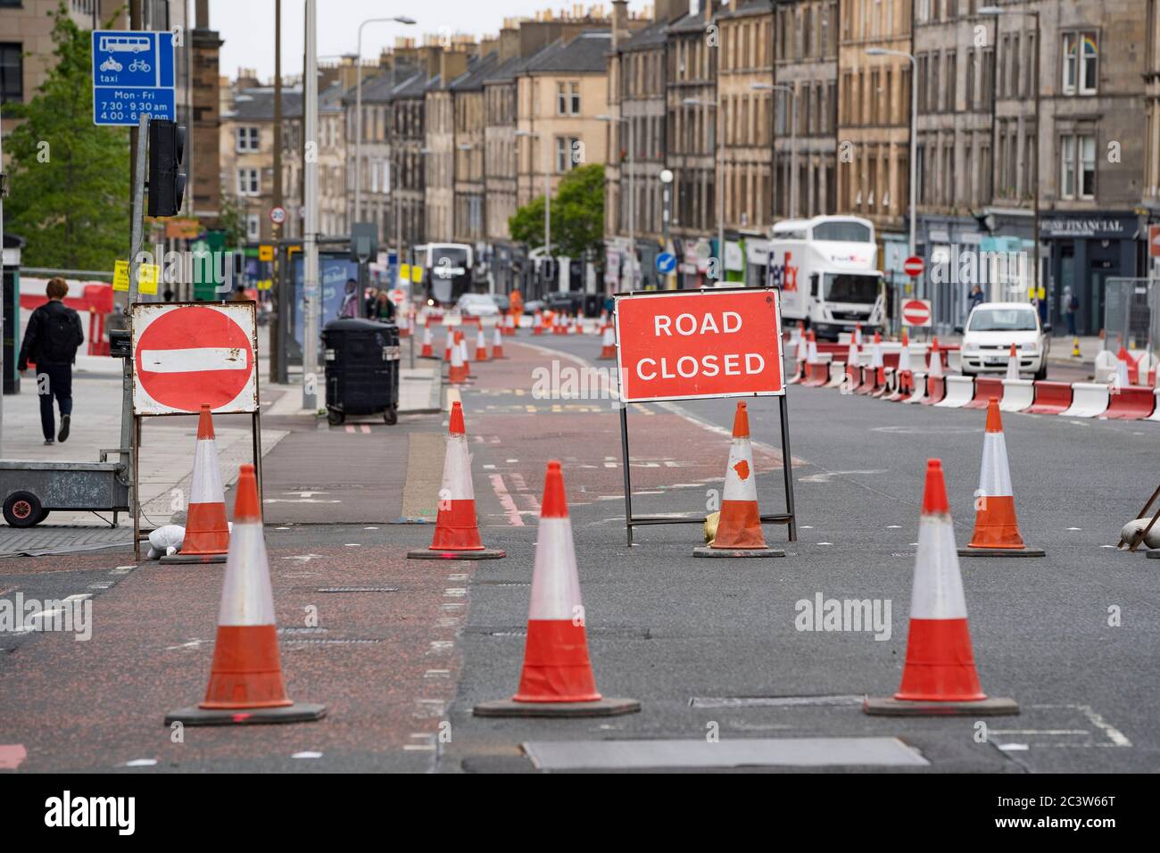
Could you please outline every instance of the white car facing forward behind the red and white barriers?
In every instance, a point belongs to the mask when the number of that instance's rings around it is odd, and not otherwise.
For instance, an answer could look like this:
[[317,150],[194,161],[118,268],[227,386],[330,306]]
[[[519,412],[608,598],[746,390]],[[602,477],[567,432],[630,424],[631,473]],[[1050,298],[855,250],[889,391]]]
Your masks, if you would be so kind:
[[1005,374],[1015,345],[1021,374],[1047,378],[1051,324],[1039,321],[1039,312],[1027,302],[985,302],[957,326],[963,334],[963,374]]

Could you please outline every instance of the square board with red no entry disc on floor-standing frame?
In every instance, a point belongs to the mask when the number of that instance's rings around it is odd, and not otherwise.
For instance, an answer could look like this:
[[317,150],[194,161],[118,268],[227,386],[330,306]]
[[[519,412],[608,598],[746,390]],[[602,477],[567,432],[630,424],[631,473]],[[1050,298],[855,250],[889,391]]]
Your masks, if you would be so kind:
[[133,413],[258,411],[254,303],[133,305]]

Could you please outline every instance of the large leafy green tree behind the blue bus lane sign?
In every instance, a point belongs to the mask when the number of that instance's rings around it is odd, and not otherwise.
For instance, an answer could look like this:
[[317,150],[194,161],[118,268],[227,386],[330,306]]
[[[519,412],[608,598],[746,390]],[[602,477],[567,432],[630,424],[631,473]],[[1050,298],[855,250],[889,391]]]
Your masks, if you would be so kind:
[[90,35],[61,2],[52,17],[56,65],[5,140],[12,157],[7,230],[28,240],[30,266],[113,269],[129,254],[129,139],[93,124]]

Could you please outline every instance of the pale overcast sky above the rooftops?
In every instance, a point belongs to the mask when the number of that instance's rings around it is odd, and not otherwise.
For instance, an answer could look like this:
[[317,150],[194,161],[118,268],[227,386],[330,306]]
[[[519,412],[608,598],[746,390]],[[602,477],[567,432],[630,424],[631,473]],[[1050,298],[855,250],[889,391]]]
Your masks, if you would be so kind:
[[[358,24],[369,17],[413,17],[413,26],[371,23],[363,29],[363,57],[375,58],[384,45],[393,44],[397,35],[421,37],[430,32],[466,32],[473,36],[495,35],[505,17],[530,17],[539,9],[572,8],[571,0],[318,0],[318,56],[336,59],[354,53],[358,44]],[[586,7],[594,5],[585,3]],[[611,1],[602,3],[606,14]],[[651,6],[650,0],[629,0],[637,14]],[[282,73],[302,72],[303,0],[282,0]],[[193,7],[193,3],[190,3]],[[233,78],[238,68],[258,68],[266,81],[274,74],[274,0],[210,0],[210,27],[216,29],[222,45],[222,73]]]

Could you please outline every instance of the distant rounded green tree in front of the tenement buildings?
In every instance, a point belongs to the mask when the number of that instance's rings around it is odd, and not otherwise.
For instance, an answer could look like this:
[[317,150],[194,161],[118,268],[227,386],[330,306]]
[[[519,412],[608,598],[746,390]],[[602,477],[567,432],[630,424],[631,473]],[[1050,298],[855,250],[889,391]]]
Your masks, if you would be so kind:
[[[536,196],[508,219],[517,243],[544,245],[544,196]],[[595,162],[568,172],[552,197],[552,251],[582,258],[597,251],[604,233],[604,166]]]

